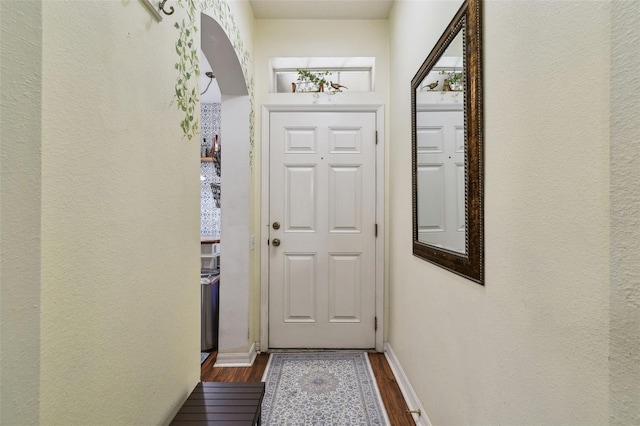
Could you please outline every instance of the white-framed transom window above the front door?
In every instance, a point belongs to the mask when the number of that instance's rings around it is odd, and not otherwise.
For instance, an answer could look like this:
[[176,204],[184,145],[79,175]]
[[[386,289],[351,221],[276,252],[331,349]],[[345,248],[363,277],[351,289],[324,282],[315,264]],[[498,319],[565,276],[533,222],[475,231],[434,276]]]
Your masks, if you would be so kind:
[[349,92],[372,92],[375,58],[373,57],[308,57],[271,58],[271,93],[292,93],[291,83],[299,79],[298,70],[328,72],[324,78],[338,83]]

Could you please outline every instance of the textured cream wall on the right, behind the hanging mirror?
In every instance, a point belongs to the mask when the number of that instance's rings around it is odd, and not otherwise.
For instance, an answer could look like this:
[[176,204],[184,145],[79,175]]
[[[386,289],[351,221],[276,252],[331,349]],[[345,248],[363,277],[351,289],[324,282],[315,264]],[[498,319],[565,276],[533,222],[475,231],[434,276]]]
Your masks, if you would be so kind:
[[411,253],[408,86],[449,3],[391,18],[390,343],[434,424],[605,424],[608,4],[485,3],[481,287]]

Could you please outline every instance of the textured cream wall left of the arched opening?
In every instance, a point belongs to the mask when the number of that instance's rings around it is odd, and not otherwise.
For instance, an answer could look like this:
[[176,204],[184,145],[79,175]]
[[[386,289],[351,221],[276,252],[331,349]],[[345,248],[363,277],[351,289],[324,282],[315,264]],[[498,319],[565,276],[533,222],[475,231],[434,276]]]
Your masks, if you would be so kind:
[[0,7],[0,423],[167,423],[200,371],[199,143],[170,105],[184,15]]

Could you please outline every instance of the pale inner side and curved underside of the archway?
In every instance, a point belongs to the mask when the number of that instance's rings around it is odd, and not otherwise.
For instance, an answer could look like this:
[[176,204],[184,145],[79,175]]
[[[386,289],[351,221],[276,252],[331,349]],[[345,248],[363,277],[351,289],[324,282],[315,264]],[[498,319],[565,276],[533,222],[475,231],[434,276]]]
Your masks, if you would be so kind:
[[[245,365],[255,357],[249,342],[250,98],[237,53],[223,28],[204,13],[200,28],[202,53],[221,93],[221,266],[216,365]],[[201,69],[203,74],[206,71],[209,70]]]

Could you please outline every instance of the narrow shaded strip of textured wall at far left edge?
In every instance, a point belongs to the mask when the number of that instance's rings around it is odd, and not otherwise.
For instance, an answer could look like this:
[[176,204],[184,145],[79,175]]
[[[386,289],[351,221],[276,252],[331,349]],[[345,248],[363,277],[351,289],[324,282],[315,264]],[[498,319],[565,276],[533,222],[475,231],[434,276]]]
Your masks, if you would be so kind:
[[36,424],[42,2],[2,1],[0,22],[0,424]]

